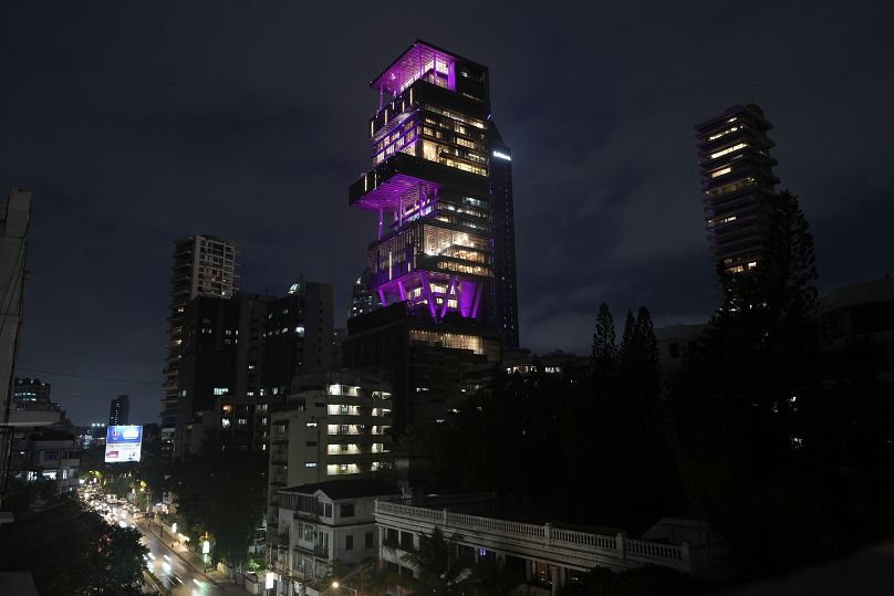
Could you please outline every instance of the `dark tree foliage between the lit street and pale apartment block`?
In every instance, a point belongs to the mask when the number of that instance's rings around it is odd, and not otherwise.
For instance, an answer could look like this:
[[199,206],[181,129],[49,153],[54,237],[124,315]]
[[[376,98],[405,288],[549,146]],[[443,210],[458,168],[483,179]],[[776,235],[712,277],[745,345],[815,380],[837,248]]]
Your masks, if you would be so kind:
[[214,535],[212,560],[239,567],[264,510],[266,453],[209,452],[171,468],[177,511],[194,540]]

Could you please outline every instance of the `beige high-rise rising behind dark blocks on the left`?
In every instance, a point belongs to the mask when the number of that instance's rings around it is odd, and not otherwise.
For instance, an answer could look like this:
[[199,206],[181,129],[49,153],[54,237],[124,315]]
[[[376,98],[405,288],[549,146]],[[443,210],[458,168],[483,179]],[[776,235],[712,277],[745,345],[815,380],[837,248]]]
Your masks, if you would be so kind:
[[162,399],[162,451],[173,453],[177,424],[177,372],[183,358],[184,313],[196,296],[231,297],[238,287],[236,244],[212,236],[190,236],[174,243],[165,395]]

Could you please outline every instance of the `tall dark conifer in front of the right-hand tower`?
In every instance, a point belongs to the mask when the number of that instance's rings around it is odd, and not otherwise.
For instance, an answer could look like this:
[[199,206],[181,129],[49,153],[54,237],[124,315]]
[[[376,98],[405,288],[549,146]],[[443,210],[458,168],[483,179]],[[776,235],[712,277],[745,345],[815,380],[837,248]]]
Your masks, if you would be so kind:
[[725,302],[675,388],[668,427],[689,501],[730,542],[744,577],[846,542],[831,477],[799,452],[819,379],[813,240],[794,195],[770,205],[757,268],[719,269]]

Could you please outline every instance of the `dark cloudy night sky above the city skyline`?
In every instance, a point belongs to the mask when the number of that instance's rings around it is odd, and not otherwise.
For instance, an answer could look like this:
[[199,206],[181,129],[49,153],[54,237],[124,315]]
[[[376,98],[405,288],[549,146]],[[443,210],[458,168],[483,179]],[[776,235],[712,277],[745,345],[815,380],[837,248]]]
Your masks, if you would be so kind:
[[7,2],[0,194],[34,191],[19,374],[76,424],[122,393],[157,421],[171,242],[191,233],[240,245],[246,291],[333,283],[343,325],[375,229],[347,208],[367,83],[417,38],[490,67],[524,346],[586,351],[602,301],[708,317],[693,125],[737,103],[775,125],[820,289],[892,272],[886,2],[617,4]]

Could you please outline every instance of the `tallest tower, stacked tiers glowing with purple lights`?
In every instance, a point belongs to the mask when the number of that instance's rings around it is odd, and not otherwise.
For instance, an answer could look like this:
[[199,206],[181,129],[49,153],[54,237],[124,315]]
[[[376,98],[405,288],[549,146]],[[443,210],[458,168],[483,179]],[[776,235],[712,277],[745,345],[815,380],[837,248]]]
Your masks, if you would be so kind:
[[511,211],[511,187],[507,170],[491,176],[509,154],[490,124],[488,76],[417,41],[371,84],[373,169],[351,186],[349,202],[377,216],[365,283],[383,309],[349,320],[342,352],[346,367],[377,366],[392,383],[398,430],[438,419],[459,399],[461,375],[433,390],[428,352],[458,353],[460,368],[500,357],[507,309],[493,287],[495,248],[509,236],[495,239],[491,199],[495,189],[508,196]]

